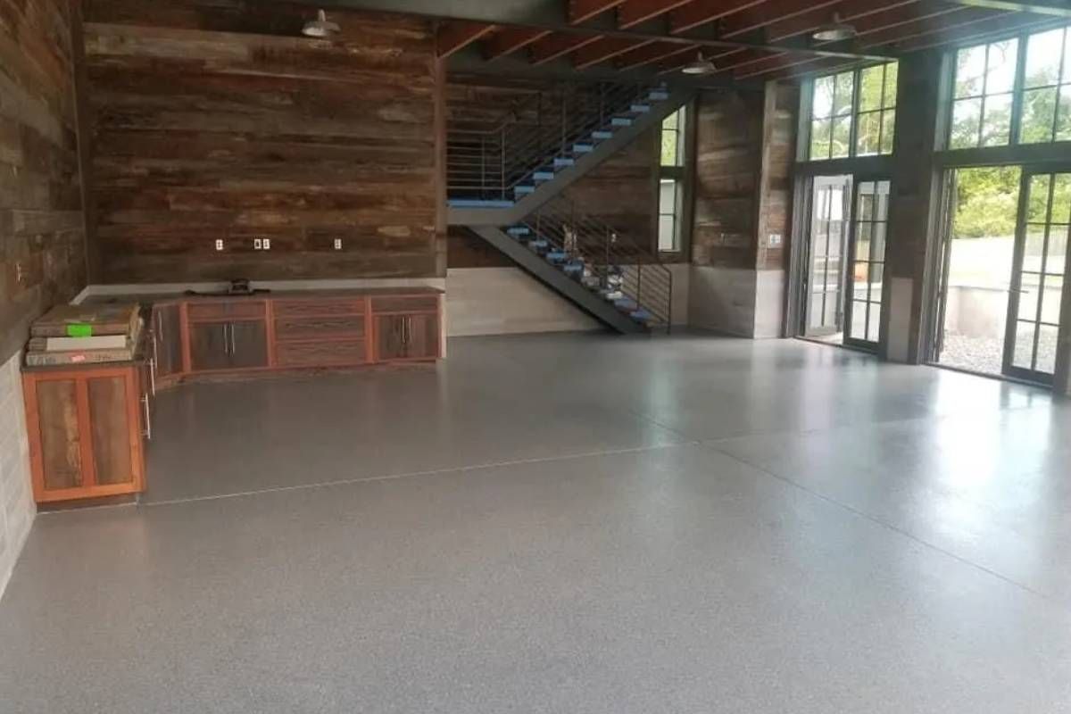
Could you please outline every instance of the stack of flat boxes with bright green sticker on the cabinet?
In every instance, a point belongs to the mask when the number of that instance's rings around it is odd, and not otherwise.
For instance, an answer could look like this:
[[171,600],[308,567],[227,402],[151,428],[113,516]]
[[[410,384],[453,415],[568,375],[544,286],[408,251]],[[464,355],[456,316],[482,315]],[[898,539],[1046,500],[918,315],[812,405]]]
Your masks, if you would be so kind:
[[30,326],[30,367],[129,362],[142,321],[137,305],[58,305]]

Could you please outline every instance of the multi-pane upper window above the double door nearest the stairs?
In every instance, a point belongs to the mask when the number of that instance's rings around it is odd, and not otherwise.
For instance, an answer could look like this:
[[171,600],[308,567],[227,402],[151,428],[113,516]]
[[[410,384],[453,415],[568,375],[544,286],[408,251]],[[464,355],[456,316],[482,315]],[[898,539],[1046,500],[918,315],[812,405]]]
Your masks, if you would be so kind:
[[888,62],[814,80],[810,161],[892,153],[897,66]]

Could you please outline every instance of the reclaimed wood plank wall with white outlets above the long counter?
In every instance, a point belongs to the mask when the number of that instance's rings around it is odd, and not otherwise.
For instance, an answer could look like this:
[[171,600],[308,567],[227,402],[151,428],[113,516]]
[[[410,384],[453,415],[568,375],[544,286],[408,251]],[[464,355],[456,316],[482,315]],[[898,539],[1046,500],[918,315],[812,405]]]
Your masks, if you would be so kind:
[[312,40],[315,10],[286,3],[85,14],[101,282],[444,274],[427,22],[332,11],[342,33]]

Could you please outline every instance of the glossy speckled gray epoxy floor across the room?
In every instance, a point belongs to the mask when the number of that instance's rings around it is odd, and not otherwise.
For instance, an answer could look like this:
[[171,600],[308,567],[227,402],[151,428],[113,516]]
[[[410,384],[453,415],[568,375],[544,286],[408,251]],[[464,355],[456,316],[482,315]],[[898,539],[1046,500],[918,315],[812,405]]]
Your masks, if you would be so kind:
[[1067,402],[801,341],[450,348],[163,395],[144,505],[39,517],[0,710],[1071,708]]

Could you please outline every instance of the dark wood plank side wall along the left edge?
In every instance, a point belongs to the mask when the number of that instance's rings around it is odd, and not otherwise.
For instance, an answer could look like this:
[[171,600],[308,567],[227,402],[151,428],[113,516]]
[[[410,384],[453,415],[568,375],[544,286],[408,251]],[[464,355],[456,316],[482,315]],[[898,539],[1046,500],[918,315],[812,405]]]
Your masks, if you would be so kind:
[[0,0],[0,363],[86,285],[67,0]]

